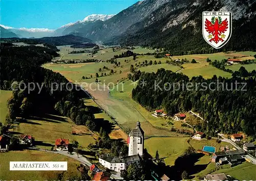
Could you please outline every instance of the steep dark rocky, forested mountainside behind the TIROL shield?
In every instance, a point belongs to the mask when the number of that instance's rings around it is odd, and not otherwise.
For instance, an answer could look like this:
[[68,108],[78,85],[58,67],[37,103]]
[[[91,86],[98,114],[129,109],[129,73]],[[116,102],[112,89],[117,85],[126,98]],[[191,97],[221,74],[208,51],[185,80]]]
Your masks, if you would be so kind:
[[[164,47],[174,55],[214,53],[220,51],[255,51],[256,2],[254,1],[202,1],[187,2],[186,7],[171,9],[174,2],[168,2],[157,9],[152,16],[129,27],[125,33],[108,41],[110,44]],[[177,6],[177,5],[176,5]],[[169,7],[169,8],[167,8]],[[240,8],[239,8],[240,7]],[[162,18],[159,14],[169,13]],[[233,14],[232,36],[224,48],[211,48],[202,36],[202,12],[228,10]]]

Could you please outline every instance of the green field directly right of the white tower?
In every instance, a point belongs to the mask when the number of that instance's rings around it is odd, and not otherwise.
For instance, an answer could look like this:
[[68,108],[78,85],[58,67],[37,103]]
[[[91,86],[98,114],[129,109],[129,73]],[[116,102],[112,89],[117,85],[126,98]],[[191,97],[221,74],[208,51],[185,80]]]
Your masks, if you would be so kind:
[[166,165],[174,165],[175,160],[188,148],[189,138],[149,138],[144,141],[145,148],[155,157],[158,150],[160,158],[164,158]]

